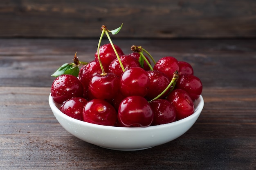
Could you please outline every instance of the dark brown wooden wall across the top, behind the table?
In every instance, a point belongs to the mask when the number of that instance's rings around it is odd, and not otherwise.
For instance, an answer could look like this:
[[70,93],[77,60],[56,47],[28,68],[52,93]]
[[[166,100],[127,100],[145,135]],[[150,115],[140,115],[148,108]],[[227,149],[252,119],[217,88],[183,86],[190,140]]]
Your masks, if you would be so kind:
[[1,0],[2,38],[255,38],[256,0]]

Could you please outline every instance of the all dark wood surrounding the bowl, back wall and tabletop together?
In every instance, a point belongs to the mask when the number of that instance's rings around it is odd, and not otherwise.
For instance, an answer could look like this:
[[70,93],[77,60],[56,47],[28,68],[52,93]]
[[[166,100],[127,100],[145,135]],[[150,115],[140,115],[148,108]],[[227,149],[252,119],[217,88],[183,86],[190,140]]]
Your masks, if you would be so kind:
[[[50,75],[122,22],[124,53],[189,62],[204,86],[188,132],[136,152],[77,139],[47,100]],[[0,170],[256,170],[255,103],[256,0],[0,0]]]

